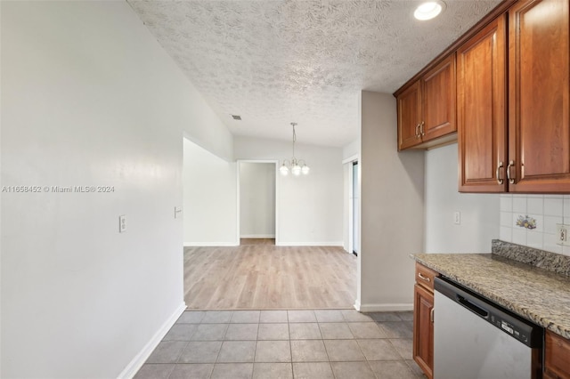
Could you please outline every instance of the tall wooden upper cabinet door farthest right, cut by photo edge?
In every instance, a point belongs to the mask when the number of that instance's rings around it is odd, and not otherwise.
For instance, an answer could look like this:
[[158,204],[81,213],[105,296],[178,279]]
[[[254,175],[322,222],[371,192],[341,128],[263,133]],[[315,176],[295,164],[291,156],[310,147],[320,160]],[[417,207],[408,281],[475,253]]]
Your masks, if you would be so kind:
[[509,191],[570,191],[568,2],[509,9]]

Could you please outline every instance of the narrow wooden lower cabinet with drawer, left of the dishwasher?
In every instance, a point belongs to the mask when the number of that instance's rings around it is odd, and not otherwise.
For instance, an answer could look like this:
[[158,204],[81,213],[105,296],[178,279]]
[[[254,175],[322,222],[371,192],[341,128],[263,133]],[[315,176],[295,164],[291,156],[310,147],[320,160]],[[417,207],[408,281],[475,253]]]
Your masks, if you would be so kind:
[[437,272],[416,263],[412,356],[428,378],[434,371],[434,278]]

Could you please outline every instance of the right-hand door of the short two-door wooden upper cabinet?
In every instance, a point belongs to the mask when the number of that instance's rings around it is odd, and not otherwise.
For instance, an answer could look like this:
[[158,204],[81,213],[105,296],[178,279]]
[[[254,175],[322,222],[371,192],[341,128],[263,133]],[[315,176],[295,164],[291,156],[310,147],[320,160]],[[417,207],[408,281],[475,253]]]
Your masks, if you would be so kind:
[[455,54],[422,77],[422,140],[430,141],[457,130],[455,122]]

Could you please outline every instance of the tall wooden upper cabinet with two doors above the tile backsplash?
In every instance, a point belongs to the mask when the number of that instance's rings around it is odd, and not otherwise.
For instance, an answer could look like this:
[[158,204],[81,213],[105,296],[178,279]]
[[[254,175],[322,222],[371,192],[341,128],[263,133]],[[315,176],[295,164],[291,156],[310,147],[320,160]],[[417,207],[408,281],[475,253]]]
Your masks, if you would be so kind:
[[520,0],[458,49],[460,191],[570,192],[569,4]]

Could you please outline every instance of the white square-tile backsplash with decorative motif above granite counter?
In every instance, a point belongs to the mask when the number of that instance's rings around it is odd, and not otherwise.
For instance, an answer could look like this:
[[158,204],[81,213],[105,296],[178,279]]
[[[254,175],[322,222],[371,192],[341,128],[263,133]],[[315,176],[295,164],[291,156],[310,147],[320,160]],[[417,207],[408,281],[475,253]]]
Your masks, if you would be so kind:
[[557,223],[570,224],[570,195],[501,195],[503,241],[570,255],[557,245]]

